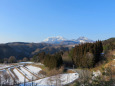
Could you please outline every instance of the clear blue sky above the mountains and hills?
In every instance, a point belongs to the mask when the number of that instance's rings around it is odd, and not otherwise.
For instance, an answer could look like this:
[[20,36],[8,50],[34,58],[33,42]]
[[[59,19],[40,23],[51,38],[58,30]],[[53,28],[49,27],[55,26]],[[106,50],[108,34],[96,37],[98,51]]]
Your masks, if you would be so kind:
[[0,43],[115,37],[115,0],[0,0]]

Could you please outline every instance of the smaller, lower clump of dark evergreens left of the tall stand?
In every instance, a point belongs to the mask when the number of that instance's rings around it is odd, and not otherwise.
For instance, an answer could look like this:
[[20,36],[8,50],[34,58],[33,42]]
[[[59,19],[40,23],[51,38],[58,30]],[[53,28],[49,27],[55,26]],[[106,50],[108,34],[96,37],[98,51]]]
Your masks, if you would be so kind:
[[46,54],[45,52],[38,53],[33,56],[34,62],[41,62],[49,69],[59,68],[63,64],[62,53]]

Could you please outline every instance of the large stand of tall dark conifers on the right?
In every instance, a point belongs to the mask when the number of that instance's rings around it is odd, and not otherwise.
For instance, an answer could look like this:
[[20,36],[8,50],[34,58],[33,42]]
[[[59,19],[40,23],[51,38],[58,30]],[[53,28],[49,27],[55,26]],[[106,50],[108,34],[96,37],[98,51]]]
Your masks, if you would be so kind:
[[75,46],[70,51],[70,57],[77,67],[91,68],[101,60],[103,45],[101,41],[85,43]]

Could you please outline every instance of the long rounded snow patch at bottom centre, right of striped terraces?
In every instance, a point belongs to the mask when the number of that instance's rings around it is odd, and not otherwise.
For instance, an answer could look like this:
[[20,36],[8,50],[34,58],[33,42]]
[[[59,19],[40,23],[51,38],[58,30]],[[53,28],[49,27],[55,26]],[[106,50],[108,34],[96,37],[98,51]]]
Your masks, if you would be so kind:
[[[76,79],[79,78],[78,73],[68,73],[68,74],[59,74],[56,76],[51,76],[47,78],[43,78],[40,80],[36,80],[33,83],[40,85],[40,86],[47,86],[47,85],[56,85],[56,83],[61,84],[61,85],[66,85],[69,83],[72,83]],[[26,83],[26,85],[30,85],[31,82]],[[20,84],[20,86],[24,86],[24,84]]]

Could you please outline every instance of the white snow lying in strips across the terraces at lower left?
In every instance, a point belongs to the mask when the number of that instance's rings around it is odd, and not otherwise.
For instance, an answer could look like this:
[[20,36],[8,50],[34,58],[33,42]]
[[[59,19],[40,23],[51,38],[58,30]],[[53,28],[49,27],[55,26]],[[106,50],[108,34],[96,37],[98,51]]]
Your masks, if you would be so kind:
[[[35,66],[27,66],[24,67],[23,65],[4,65],[4,64],[0,64],[0,76],[2,77],[2,83],[5,83],[5,79],[4,76],[7,73],[10,76],[10,80],[11,79],[17,79],[18,83],[23,83],[24,79],[26,81],[31,81],[33,80],[37,80],[38,77],[37,74],[39,73],[40,70],[42,70],[41,68],[35,67]],[[12,71],[11,71],[12,69]],[[12,80],[13,81],[13,80]]]

